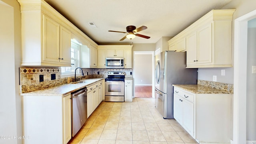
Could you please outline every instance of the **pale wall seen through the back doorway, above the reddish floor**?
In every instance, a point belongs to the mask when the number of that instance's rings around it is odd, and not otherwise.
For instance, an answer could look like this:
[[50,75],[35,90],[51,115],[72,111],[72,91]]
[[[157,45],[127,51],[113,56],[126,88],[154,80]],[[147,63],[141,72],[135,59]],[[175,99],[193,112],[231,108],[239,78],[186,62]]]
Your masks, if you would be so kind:
[[134,85],[152,85],[152,54],[134,55]]

